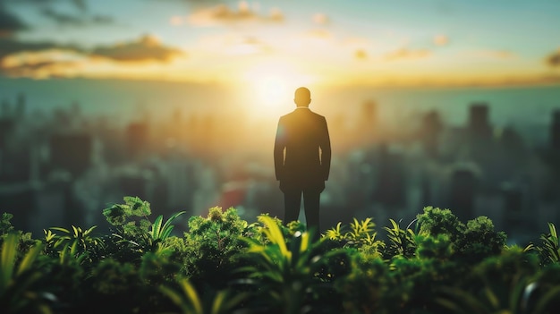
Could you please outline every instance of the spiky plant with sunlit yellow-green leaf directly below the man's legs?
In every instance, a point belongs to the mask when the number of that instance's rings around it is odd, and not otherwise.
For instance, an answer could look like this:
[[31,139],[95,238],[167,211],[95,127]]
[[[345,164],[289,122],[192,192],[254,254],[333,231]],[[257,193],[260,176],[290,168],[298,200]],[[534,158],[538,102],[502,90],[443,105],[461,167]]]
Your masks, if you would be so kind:
[[[270,313],[297,313],[313,304],[322,312],[340,310],[333,304],[334,291],[325,284],[319,274],[329,259],[344,255],[344,250],[320,250],[322,242],[313,242],[310,233],[296,232],[289,245],[280,225],[269,216],[259,216],[263,225],[260,232],[267,238],[262,243],[250,238],[246,252],[249,264],[238,269],[245,274],[257,298],[259,307]],[[328,274],[327,274],[328,276]],[[328,298],[330,302],[327,302]]]

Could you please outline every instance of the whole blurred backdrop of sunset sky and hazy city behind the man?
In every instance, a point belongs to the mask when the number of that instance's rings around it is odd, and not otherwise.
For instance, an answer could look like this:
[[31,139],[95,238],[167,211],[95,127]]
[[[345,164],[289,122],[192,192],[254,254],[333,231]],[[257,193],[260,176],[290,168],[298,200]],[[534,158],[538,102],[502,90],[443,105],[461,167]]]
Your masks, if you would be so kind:
[[[560,2],[0,0],[0,212],[33,233],[157,214],[282,217],[293,91],[325,115],[323,229],[560,223]],[[187,219],[184,217],[183,219]],[[177,229],[186,228],[177,224]]]

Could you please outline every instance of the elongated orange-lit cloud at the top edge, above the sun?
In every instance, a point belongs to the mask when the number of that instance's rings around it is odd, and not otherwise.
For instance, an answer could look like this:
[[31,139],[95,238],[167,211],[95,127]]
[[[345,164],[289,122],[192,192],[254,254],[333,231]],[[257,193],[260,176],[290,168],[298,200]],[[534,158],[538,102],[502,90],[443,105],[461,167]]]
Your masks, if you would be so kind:
[[[231,9],[226,4],[196,10],[186,20],[195,26],[213,26],[217,24],[236,23],[244,21],[282,22],[284,13],[273,8],[268,14],[260,14],[259,8],[250,8],[247,2],[239,3],[237,9]],[[179,21],[176,20],[175,21]]]

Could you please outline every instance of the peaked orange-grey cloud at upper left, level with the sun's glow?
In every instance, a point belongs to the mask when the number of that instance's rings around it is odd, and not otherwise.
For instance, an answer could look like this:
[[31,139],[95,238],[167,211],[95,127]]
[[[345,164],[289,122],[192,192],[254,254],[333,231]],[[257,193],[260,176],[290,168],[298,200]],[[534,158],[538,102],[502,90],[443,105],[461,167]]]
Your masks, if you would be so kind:
[[182,50],[165,47],[151,35],[145,35],[138,40],[116,44],[108,47],[96,47],[91,55],[100,56],[121,62],[169,62],[177,56],[184,55]]

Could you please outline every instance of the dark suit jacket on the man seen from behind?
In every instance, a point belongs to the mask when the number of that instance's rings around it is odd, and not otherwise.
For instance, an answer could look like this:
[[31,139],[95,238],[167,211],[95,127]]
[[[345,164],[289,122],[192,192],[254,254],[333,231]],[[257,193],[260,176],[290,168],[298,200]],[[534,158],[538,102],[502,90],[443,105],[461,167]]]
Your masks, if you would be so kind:
[[325,189],[331,164],[327,120],[309,108],[296,108],[278,121],[274,146],[280,190]]

